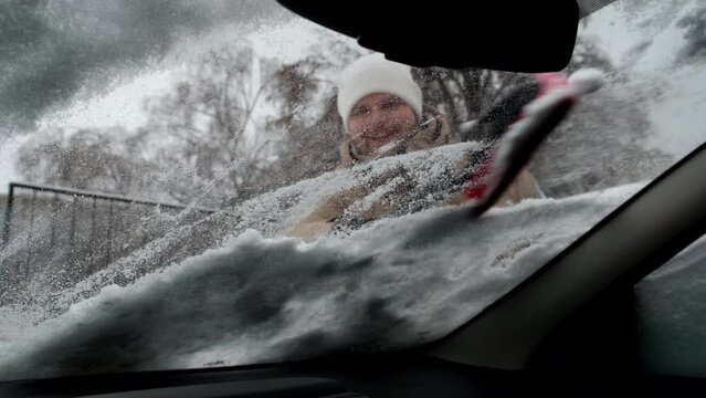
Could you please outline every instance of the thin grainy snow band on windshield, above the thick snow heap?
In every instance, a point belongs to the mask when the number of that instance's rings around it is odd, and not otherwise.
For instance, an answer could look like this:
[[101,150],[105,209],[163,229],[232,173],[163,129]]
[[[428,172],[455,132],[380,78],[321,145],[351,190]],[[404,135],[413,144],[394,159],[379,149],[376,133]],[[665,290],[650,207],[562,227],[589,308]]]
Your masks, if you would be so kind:
[[[366,195],[351,198],[351,205],[331,231],[337,235],[346,235],[367,223],[366,211],[380,200],[389,205],[390,217],[421,211],[438,206],[461,189],[467,181],[467,170],[460,168],[460,165],[464,164],[470,151],[482,147],[477,143],[461,143],[371,160],[264,193],[239,205],[232,211],[219,212],[207,219],[197,217],[197,221],[192,217],[199,216],[194,214],[198,212],[196,208],[178,214],[156,212],[135,223],[133,233],[124,237],[119,243],[139,241],[144,231],[148,231],[148,234],[161,233],[159,239],[127,256],[117,258],[107,268],[91,275],[82,272],[81,263],[73,264],[67,255],[62,256],[57,252],[62,248],[51,244],[51,229],[44,228],[41,234],[35,228],[34,241],[45,245],[33,248],[29,279],[23,276],[23,272],[14,271],[13,266],[0,268],[0,306],[31,303],[33,308],[30,311],[45,313],[39,314],[39,317],[55,316],[72,304],[96,294],[102,287],[135,282],[146,273],[178,263],[207,249],[221,247],[223,239],[247,229],[257,230],[266,238],[280,235],[302,221],[322,201],[350,189],[360,191],[362,187]],[[22,270],[28,256],[22,255],[22,251],[30,248],[22,239],[15,239],[14,242],[17,244],[0,250],[0,263],[7,263],[12,258],[20,259],[18,266]]]

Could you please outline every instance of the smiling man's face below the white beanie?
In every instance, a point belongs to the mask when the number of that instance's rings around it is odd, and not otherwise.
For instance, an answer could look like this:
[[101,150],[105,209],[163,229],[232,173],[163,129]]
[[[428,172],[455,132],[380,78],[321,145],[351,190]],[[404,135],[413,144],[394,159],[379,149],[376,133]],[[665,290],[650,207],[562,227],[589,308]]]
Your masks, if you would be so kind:
[[358,100],[348,116],[348,135],[362,155],[409,134],[417,124],[414,111],[401,98],[373,93]]

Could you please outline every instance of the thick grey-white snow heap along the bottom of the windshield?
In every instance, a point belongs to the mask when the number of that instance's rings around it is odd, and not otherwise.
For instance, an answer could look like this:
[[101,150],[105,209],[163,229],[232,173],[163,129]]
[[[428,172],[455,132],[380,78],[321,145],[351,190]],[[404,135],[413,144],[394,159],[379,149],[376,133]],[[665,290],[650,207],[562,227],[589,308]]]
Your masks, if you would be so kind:
[[[314,243],[246,230],[57,317],[9,327],[0,379],[191,368],[387,350],[471,320],[641,185],[526,200],[470,221],[445,207]],[[21,314],[17,314],[21,316]],[[13,332],[14,331],[14,332]]]

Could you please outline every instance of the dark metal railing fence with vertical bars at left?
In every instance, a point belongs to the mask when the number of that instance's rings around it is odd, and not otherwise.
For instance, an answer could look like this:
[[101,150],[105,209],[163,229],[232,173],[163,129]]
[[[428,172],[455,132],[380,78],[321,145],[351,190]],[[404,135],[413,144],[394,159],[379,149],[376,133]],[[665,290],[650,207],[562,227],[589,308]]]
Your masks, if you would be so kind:
[[[185,211],[185,210],[191,211]],[[2,223],[0,303],[12,292],[61,289],[215,210],[11,182]],[[27,292],[23,292],[23,294]]]

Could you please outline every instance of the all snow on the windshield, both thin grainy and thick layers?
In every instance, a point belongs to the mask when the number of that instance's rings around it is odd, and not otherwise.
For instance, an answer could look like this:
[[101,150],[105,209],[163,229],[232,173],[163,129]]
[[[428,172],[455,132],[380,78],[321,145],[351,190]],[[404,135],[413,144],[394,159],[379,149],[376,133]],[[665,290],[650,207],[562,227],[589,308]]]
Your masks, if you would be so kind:
[[[457,165],[478,148],[447,145],[304,180],[176,228],[70,287],[50,289],[62,270],[42,270],[3,307],[1,375],[252,364],[431,342],[641,187],[529,199],[471,220],[466,206],[439,203],[465,181]],[[351,210],[350,223],[314,243],[277,238],[330,195],[371,181],[351,209],[405,181],[401,214],[361,221]],[[190,242],[204,235],[220,243],[193,255]]]

